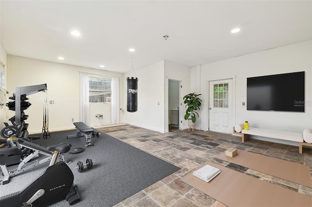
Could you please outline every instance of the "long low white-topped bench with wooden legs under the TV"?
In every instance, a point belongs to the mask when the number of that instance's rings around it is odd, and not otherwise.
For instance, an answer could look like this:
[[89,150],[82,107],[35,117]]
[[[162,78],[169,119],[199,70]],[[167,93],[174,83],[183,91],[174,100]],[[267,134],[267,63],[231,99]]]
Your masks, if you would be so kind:
[[233,134],[241,135],[242,142],[247,141],[251,135],[260,136],[260,137],[268,137],[268,138],[278,138],[278,139],[283,139],[283,140],[299,142],[300,154],[302,154],[302,145],[312,146],[312,144],[304,142],[302,133],[277,131],[277,130],[272,130],[272,129],[260,129],[260,128],[254,128],[254,127],[249,127],[249,130],[243,129],[241,133],[239,133],[239,132],[235,132],[235,127],[233,127]]

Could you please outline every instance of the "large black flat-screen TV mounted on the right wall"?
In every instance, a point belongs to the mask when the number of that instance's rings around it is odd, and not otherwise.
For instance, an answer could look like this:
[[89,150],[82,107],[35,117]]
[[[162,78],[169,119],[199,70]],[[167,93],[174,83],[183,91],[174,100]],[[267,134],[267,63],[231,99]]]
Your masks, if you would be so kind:
[[304,112],[305,72],[247,78],[247,110]]

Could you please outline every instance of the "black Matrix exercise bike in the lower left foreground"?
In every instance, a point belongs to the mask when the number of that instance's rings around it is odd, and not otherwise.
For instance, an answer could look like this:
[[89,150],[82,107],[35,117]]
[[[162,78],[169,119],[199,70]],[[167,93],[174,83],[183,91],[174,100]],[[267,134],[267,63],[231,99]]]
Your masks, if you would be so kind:
[[[0,154],[20,152],[21,138],[8,138],[9,148]],[[53,151],[49,167],[25,189],[0,197],[0,207],[46,207],[66,199],[70,205],[80,201],[78,187],[73,184],[74,174],[66,163],[59,161],[59,154],[70,150],[71,145],[60,143],[47,147]]]

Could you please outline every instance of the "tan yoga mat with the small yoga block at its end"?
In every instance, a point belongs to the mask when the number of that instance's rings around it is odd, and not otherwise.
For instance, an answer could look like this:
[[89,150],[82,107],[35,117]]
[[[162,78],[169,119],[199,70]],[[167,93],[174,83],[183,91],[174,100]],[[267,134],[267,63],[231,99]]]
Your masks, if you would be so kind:
[[237,151],[238,154],[234,157],[226,156],[224,152],[216,158],[312,188],[308,165],[243,150]]

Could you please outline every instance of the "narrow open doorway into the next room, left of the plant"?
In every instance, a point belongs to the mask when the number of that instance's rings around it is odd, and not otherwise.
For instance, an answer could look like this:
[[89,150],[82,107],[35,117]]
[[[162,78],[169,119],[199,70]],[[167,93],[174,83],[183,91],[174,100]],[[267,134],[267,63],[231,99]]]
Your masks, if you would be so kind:
[[168,80],[169,131],[180,129],[180,81]]

